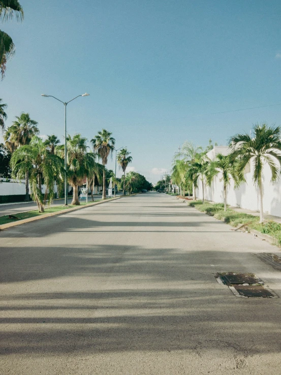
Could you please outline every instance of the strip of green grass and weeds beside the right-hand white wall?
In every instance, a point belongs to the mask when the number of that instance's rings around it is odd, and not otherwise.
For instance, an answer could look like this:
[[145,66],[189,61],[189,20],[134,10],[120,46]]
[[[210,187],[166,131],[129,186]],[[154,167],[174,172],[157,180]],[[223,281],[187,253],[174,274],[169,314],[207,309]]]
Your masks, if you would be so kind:
[[269,234],[276,240],[276,245],[281,247],[281,225],[272,220],[267,220],[263,224],[260,224],[260,217],[236,212],[227,208],[224,211],[223,203],[202,203],[202,200],[192,201],[189,206],[195,207],[201,212],[215,217],[218,220],[224,220],[226,223],[237,227],[238,224],[247,224],[247,227],[258,230],[261,233]]

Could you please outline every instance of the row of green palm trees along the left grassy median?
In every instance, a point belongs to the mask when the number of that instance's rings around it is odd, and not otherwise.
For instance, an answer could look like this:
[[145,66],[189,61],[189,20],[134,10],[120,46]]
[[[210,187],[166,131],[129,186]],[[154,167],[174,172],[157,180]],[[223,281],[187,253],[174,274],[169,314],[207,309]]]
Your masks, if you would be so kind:
[[[3,130],[5,129],[4,121],[7,118],[5,106],[0,104]],[[44,212],[46,200],[51,202],[54,197],[55,183],[60,187],[64,185],[64,145],[60,145],[54,134],[48,135],[47,140],[43,142],[39,137],[38,122],[31,119],[28,113],[16,116],[16,120],[4,131],[4,141],[5,147],[11,153],[12,177],[17,180],[25,179],[25,200],[29,200],[30,186],[30,195],[37,202],[39,211]],[[106,199],[108,172],[106,164],[109,156],[112,156],[115,139],[111,132],[102,129],[95,138],[91,139],[90,143],[92,151],[89,151],[87,139],[81,134],[74,134],[73,137],[67,136],[67,181],[73,188],[72,204],[74,205],[80,204],[78,189],[85,178],[92,195],[96,179],[100,182],[103,175],[103,199]],[[102,164],[98,160],[101,160]],[[126,181],[128,182],[125,176],[126,168],[132,162],[132,156],[126,148],[123,148],[117,154],[117,161],[124,173],[123,194],[125,194]],[[113,172],[111,176],[116,183]],[[46,186],[44,195],[42,194],[43,183]]]

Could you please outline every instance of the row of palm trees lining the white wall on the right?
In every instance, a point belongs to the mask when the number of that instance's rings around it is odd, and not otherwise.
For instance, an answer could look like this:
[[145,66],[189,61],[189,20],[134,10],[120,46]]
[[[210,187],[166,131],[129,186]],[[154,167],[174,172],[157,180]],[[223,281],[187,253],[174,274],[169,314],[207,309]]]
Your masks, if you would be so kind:
[[180,195],[192,191],[196,199],[198,184],[202,185],[202,200],[205,199],[205,186],[210,186],[214,177],[219,175],[224,186],[224,208],[227,209],[227,189],[230,179],[237,188],[245,182],[245,167],[253,165],[253,182],[259,191],[260,222],[263,215],[263,170],[266,164],[271,171],[271,182],[279,179],[281,166],[281,127],[268,126],[266,123],[256,124],[251,134],[235,134],[228,142],[229,153],[215,155],[210,160],[207,153],[213,148],[211,141],[203,149],[185,142],[181,152],[174,158],[171,178],[180,187]]

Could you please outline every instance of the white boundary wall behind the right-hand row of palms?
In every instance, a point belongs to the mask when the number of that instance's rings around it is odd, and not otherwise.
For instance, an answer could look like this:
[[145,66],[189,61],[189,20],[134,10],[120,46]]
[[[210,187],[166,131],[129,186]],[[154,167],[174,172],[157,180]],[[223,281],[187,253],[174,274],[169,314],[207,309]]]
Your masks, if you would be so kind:
[[[215,146],[213,150],[207,153],[207,156],[213,160],[215,155],[222,153],[227,155],[229,152],[227,146]],[[240,207],[247,210],[259,211],[258,189],[253,182],[253,165],[246,169],[244,174],[246,183],[240,185],[238,189],[234,189],[234,183],[231,179],[227,192],[227,202],[230,206]],[[222,174],[218,174],[210,187],[205,185],[205,199],[214,202],[224,202],[223,182],[220,181]],[[263,211],[265,214],[281,217],[281,178],[275,184],[270,182],[270,168],[266,164],[263,172]],[[197,189],[197,197],[202,199],[202,182],[198,180],[199,189]]]

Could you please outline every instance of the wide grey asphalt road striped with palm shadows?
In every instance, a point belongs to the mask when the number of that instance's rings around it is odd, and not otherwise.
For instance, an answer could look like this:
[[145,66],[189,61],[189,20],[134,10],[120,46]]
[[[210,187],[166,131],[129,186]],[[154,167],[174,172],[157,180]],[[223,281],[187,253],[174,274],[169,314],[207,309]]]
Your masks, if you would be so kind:
[[215,272],[281,296],[279,250],[146,193],[0,232],[1,374],[281,374],[281,299],[238,298]]

